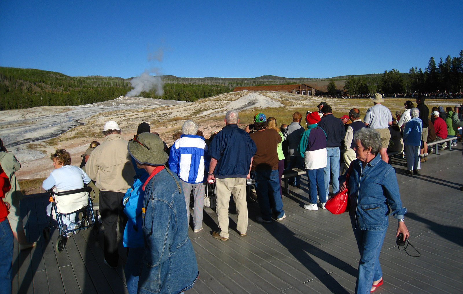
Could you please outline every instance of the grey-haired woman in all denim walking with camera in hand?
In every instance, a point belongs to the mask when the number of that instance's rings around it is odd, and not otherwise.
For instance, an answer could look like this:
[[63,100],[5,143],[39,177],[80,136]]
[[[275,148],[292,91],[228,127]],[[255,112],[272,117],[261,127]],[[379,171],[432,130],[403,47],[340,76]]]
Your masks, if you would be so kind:
[[[399,221],[396,236],[409,233],[403,221],[407,208],[402,207],[399,185],[394,168],[381,160],[381,137],[374,129],[363,128],[354,134],[357,159],[352,161],[349,177],[350,221],[357,240],[360,262],[356,294],[367,294],[382,285],[379,264],[384,236],[388,228],[388,215]],[[345,176],[340,177],[341,190]],[[390,212],[390,210],[392,212]]]

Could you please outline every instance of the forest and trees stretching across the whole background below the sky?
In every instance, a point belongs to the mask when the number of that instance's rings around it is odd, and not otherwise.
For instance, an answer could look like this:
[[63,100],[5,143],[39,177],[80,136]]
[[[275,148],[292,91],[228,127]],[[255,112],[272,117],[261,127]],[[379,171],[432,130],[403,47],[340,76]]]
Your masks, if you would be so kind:
[[[131,79],[118,77],[70,77],[38,69],[0,67],[0,110],[48,105],[81,105],[107,101],[125,95],[132,87]],[[154,91],[142,92],[146,98],[196,101],[225,92],[237,86],[284,84],[313,84],[326,79],[284,78],[264,75],[257,78],[179,78],[162,76],[163,96]],[[396,69],[383,74],[338,76],[330,79],[329,92],[338,95],[334,80],[345,80],[344,91],[350,95],[381,92],[388,96],[397,93],[462,92],[463,50],[457,57],[448,55],[438,64],[431,57],[425,71],[412,67],[408,73]],[[330,91],[331,90],[331,91]]]

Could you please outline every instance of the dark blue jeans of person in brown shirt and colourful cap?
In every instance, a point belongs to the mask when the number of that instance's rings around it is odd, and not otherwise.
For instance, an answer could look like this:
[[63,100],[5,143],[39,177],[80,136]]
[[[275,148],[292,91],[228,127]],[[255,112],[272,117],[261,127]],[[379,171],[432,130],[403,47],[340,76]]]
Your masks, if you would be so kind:
[[278,179],[278,170],[252,171],[252,178],[256,181],[257,201],[263,220],[272,219],[270,201],[276,218],[281,218],[285,212],[280,196],[281,180]]

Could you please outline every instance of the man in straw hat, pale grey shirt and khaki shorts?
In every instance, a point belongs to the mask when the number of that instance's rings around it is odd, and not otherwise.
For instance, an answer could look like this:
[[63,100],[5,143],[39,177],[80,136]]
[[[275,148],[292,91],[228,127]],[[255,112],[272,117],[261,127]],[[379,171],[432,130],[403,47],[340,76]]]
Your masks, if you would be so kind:
[[363,122],[367,127],[375,129],[375,131],[381,135],[381,149],[379,153],[381,154],[382,160],[389,162],[387,150],[389,140],[391,139],[391,132],[388,129],[392,124],[391,110],[381,104],[384,102],[384,99],[380,93],[376,93],[375,98],[370,99],[375,105],[367,110]]

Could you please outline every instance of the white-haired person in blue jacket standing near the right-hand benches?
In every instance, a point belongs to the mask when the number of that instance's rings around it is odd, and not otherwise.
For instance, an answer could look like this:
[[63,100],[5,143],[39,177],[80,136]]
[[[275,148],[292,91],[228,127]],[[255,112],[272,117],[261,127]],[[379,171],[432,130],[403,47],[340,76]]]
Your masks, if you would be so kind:
[[413,173],[419,173],[419,147],[421,146],[423,122],[421,122],[421,119],[418,117],[418,108],[412,108],[412,110],[410,110],[410,116],[412,116],[412,118],[405,124],[403,138],[405,153],[407,154],[407,173],[413,175]]

